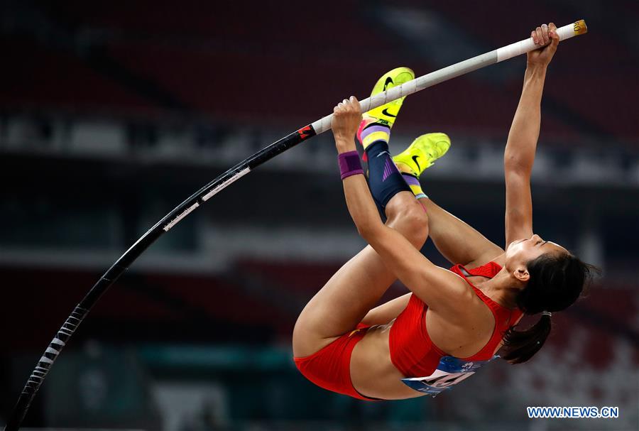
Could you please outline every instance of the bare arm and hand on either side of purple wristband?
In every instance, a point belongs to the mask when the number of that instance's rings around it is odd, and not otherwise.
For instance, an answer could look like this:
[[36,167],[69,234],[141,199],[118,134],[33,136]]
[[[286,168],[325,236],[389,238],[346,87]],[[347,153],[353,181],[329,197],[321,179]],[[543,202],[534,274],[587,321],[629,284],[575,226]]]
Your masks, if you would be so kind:
[[[355,150],[354,136],[361,112],[355,98],[334,109],[333,135],[339,153]],[[472,310],[474,293],[458,275],[435,266],[408,239],[382,223],[364,175],[343,180],[344,197],[359,234],[371,244],[382,261],[406,287],[432,310],[463,322]]]

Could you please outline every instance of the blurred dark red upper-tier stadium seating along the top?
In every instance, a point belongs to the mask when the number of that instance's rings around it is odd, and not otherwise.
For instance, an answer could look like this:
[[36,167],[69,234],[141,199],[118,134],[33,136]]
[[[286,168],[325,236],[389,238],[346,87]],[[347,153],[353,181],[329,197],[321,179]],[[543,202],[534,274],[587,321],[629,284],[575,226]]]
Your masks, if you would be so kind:
[[[520,34],[529,26],[507,19],[507,9],[503,16],[484,16],[500,8],[482,4],[466,4],[467,13],[461,15],[445,2],[402,1],[395,7],[439,13],[476,40],[477,50],[501,45],[504,35]],[[374,13],[361,11],[354,1],[342,2],[340,13],[278,2],[259,14],[244,13],[240,25],[231,25],[228,18],[237,16],[241,8],[227,5],[220,10],[215,4],[197,1],[140,1],[125,11],[107,1],[88,5],[74,0],[57,5],[51,13],[77,31],[102,35],[97,44],[104,43],[107,55],[124,70],[170,94],[187,109],[218,121],[302,124],[326,114],[340,97],[364,97],[378,75],[399,63],[410,63],[418,75],[437,68],[404,46],[406,40],[383,26],[371,25],[376,23]],[[550,6],[542,5],[530,20],[549,16],[550,11]],[[558,18],[568,13],[563,11]],[[477,28],[476,23],[484,22],[498,26]],[[342,31],[336,34],[332,28]],[[109,70],[89,65],[82,55],[16,38],[2,41],[9,58],[15,59],[0,72],[8,86],[0,92],[5,106],[91,106],[119,114],[167,108],[150,102],[134,85],[110,76]],[[553,65],[547,84],[552,116],[544,118],[543,136],[579,143],[584,133],[581,122],[586,132],[633,141],[639,135],[633,113],[618,115],[604,109],[620,101],[622,93],[639,92],[639,80],[623,73],[626,67],[621,64],[632,60],[618,61],[633,54],[605,34],[593,32],[586,40],[571,43],[562,52],[562,62]],[[599,80],[596,86],[583,67],[592,51],[599,53],[597,61],[610,65],[608,80]],[[33,80],[30,72],[41,69],[48,73]],[[519,75],[509,75],[500,86],[472,75],[457,78],[410,99],[402,124],[501,138],[506,136],[519,89]]]

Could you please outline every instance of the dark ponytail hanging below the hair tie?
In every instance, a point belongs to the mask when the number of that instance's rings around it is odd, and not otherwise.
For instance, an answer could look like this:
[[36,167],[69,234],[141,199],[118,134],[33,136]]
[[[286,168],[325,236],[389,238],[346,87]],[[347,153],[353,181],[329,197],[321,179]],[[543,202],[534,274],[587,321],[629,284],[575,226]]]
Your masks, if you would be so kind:
[[543,312],[540,320],[528,329],[515,331],[517,326],[519,325],[508,328],[503,336],[505,354],[502,354],[501,357],[510,364],[521,364],[528,361],[542,348],[552,328],[550,312]]

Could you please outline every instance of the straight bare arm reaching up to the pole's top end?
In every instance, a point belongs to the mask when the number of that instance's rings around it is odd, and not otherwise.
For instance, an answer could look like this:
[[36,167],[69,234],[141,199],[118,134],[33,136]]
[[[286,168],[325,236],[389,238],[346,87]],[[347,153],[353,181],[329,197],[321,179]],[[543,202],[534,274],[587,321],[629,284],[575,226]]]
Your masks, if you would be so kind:
[[532,236],[532,197],[530,173],[535,161],[541,122],[541,98],[546,67],[557,50],[559,36],[555,24],[537,27],[531,38],[545,48],[528,53],[521,98],[508,133],[503,155],[506,177],[506,247],[515,239]]

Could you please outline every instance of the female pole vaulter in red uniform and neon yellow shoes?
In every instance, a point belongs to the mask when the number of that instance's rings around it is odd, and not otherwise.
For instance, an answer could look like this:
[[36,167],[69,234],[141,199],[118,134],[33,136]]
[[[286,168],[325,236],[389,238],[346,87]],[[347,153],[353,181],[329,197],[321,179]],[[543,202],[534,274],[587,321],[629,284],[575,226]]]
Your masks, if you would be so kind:
[[[550,23],[531,33],[540,48],[528,53],[508,134],[506,251],[423,194],[417,178],[447,151],[446,135],[420,136],[391,158],[388,140],[402,99],[364,118],[355,97],[334,108],[346,204],[369,245],[333,275],[295,324],[295,364],[310,381],[362,400],[437,395],[497,357],[497,351],[513,364],[528,361],[550,333],[551,312],[579,298],[594,267],[532,231],[530,173],[547,65],[559,43],[555,30]],[[408,68],[392,70],[373,94],[413,77]],[[355,151],[356,134],[368,159],[368,184]],[[386,224],[375,202],[386,212]],[[450,270],[420,253],[429,234],[457,263]],[[373,308],[397,278],[411,293]],[[523,314],[539,313],[532,327],[515,329]]]

